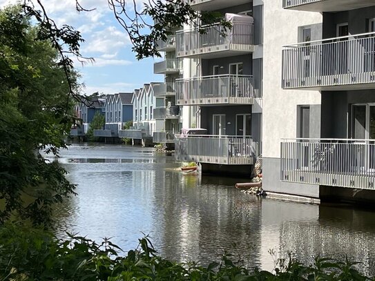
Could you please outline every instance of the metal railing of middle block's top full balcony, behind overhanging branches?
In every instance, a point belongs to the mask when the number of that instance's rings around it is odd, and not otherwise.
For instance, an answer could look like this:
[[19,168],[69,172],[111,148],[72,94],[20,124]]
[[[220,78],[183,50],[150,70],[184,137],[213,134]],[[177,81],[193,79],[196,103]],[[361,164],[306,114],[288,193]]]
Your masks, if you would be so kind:
[[[225,33],[225,36],[223,36]],[[176,32],[177,57],[227,57],[253,52],[253,23],[233,22],[231,30],[220,24],[204,28]]]

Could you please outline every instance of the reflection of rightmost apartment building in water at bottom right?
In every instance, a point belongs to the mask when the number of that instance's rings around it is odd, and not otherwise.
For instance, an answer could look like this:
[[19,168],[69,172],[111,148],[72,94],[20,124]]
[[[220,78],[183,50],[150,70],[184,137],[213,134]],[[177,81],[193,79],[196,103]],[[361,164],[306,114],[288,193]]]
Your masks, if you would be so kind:
[[[373,216],[373,214],[372,214]],[[368,218],[366,222],[363,218]],[[371,213],[320,206],[316,222],[286,221],[280,228],[280,253],[291,251],[311,263],[316,255],[360,262],[358,269],[375,274],[375,228]]]

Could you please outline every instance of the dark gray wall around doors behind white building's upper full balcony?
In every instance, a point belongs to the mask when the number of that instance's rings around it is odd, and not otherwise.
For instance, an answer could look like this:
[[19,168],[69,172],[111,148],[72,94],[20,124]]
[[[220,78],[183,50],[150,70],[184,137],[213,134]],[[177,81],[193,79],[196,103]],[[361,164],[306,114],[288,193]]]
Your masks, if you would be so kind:
[[338,23],[349,24],[349,34],[356,35],[369,31],[369,19],[375,18],[375,6],[344,12],[323,13],[323,38],[336,37]]

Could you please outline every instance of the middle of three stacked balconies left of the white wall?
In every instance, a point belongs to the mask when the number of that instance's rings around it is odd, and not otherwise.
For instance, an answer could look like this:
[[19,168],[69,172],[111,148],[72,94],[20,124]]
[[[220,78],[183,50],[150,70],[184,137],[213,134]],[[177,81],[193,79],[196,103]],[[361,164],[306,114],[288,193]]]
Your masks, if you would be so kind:
[[251,75],[215,75],[177,79],[176,104],[253,104],[254,89]]

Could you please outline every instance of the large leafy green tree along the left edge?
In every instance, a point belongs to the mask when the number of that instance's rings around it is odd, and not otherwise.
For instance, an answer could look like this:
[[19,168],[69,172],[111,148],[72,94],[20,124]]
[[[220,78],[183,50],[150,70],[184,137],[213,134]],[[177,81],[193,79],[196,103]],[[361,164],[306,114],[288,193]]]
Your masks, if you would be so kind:
[[75,188],[41,151],[53,159],[65,147],[77,74],[32,22],[19,6],[0,10],[0,225],[12,215],[48,223],[52,204]]

